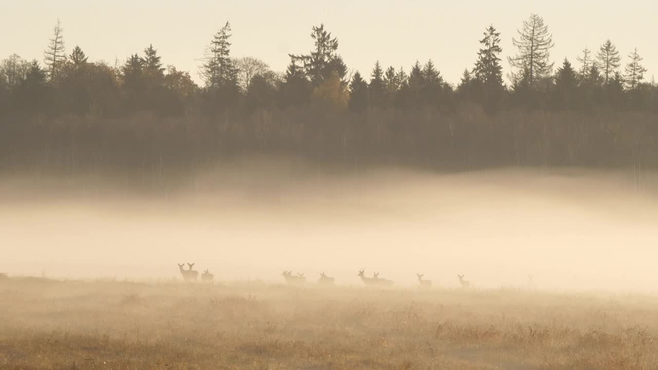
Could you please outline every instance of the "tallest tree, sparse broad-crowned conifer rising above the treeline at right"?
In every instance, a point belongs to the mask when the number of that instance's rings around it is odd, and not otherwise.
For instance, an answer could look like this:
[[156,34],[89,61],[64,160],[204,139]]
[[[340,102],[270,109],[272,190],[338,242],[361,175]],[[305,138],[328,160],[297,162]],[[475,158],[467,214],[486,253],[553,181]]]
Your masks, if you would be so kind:
[[510,72],[509,78],[519,84],[527,84],[534,87],[547,76],[550,76],[553,63],[549,63],[549,50],[555,46],[553,35],[548,32],[548,26],[544,24],[544,18],[537,14],[530,14],[528,20],[523,21],[522,30],[519,32],[519,40],[512,39],[519,53],[509,57],[509,64],[517,68],[516,72]]

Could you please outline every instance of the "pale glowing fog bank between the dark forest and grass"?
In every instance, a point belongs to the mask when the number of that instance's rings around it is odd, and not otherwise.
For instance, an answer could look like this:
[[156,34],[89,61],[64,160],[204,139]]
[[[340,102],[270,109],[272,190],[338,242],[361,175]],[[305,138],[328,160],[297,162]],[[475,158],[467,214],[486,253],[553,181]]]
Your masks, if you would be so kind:
[[157,195],[95,181],[5,177],[0,271],[161,280],[190,262],[229,282],[282,282],[286,269],[361,285],[365,268],[400,287],[416,273],[440,288],[457,288],[458,273],[476,288],[527,288],[528,275],[543,290],[658,287],[656,192],[624,174],[247,161]]

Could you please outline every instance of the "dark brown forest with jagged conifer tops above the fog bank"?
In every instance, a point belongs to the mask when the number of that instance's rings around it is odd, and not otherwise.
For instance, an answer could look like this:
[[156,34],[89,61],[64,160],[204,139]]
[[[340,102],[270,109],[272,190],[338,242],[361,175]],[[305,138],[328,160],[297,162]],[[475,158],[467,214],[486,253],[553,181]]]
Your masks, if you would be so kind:
[[484,28],[456,83],[431,59],[352,70],[323,24],[311,28],[311,49],[278,72],[233,57],[232,32],[226,22],[209,37],[199,85],[156,45],[92,61],[65,46],[57,20],[43,61],[0,61],[0,170],[161,176],[243,155],[439,171],[658,167],[658,84],[640,52],[622,59],[602,40],[574,61],[554,61],[537,14],[505,36],[515,50],[504,62],[503,36]]

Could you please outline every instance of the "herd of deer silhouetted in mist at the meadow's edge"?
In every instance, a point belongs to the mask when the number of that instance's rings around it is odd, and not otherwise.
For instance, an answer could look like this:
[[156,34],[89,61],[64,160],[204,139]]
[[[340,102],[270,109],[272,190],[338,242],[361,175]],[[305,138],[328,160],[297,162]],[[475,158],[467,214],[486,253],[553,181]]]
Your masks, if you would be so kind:
[[[188,269],[184,269],[185,264],[180,264],[178,263],[178,269],[180,270],[180,275],[183,276],[183,279],[186,282],[192,282],[196,281],[197,278],[199,277],[199,271],[195,271],[192,269],[194,267],[194,263],[188,263]],[[365,269],[360,269],[359,274],[357,276],[361,278],[361,281],[366,286],[380,286],[380,287],[387,287],[387,286],[393,286],[395,282],[393,280],[388,280],[388,278],[380,278],[379,273],[372,273],[372,277],[367,277],[365,275],[366,271]],[[304,276],[303,273],[301,274],[296,274],[293,275],[292,271],[284,271],[282,274],[282,277],[284,277],[284,280],[288,284],[305,284],[306,283],[306,277]],[[429,289],[432,288],[432,280],[427,280],[424,279],[424,274],[416,274],[418,277],[418,286],[420,288],[424,289]],[[215,275],[209,273],[208,270],[204,270],[203,274],[201,274],[201,281],[202,282],[213,282],[213,279],[215,278]],[[464,280],[464,275],[457,275],[457,278],[459,278],[459,284],[461,284],[462,288],[470,288],[470,282],[467,280]],[[320,285],[333,285],[336,279],[332,277],[328,277],[327,275],[324,274],[324,272],[320,273],[320,278],[318,278],[318,284]]]

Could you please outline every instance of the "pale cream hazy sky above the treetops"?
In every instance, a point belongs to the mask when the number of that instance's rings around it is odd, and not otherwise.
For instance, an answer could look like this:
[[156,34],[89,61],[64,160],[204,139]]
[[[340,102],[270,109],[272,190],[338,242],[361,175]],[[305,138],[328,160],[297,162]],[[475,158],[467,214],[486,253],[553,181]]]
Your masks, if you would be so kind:
[[[513,51],[511,38],[530,13],[544,17],[553,33],[551,58],[561,63],[588,46],[598,49],[610,38],[623,56],[638,47],[649,69],[658,70],[655,36],[658,1],[630,3],[606,0],[499,1],[253,1],[253,0],[0,0],[0,57],[12,53],[43,59],[53,25],[59,17],[67,52],[80,45],[90,59],[124,61],[149,43],[164,64],[189,70],[197,65],[211,36],[226,22],[233,28],[232,55],[255,56],[275,70],[284,70],[288,53],[312,47],[311,26],[324,22],[340,41],[349,68],[370,74],[372,65],[404,66],[432,58],[449,82],[458,82],[471,68],[478,40],[489,24],[503,39],[503,54]],[[509,70],[504,60],[505,73]],[[622,66],[623,68],[623,66]]]

